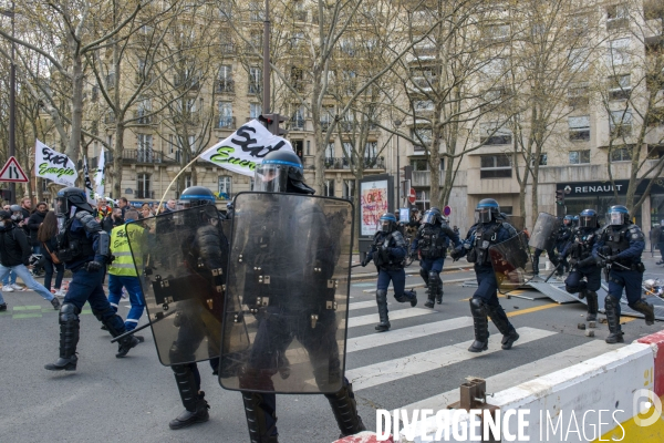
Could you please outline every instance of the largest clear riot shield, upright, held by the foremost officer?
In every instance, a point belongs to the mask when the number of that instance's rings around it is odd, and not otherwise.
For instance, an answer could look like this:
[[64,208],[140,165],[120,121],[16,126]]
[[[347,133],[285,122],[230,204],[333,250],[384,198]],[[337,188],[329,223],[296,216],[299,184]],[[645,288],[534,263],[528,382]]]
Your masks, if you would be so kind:
[[353,205],[241,193],[235,210],[219,383],[257,392],[339,391]]

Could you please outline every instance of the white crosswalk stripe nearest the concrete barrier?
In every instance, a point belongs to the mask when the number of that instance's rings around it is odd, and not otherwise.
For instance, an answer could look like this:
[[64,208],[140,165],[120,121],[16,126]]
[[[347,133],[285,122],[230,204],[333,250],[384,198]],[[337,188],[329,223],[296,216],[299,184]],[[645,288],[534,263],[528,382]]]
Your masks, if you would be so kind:
[[[520,340],[517,341],[516,344],[518,346],[519,342]],[[491,375],[486,379],[487,392],[494,393],[513,388],[517,384],[569,368],[584,360],[598,357],[604,352],[619,349],[623,346],[624,344],[606,344],[603,340],[591,340],[587,343],[556,353],[553,356],[548,356],[530,363],[510,369],[509,371]],[[459,380],[459,384],[463,381],[464,380]],[[457,401],[459,401],[458,388],[400,408],[409,411],[414,409],[433,409],[434,411],[438,411],[447,409],[448,404]]]

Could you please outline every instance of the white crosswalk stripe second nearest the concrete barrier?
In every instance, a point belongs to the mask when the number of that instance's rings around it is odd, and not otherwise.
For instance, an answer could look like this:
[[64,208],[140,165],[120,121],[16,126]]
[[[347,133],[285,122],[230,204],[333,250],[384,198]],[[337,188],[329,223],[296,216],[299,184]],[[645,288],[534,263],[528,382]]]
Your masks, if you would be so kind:
[[[520,336],[517,346],[540,340],[558,333],[554,331],[546,331],[543,329],[535,328],[519,328],[517,331]],[[466,360],[475,359],[479,356],[487,356],[497,352],[501,350],[501,340],[502,336],[500,334],[491,336],[489,338],[489,349],[488,351],[484,352],[468,351],[468,347],[474,340],[433,349],[430,351],[418,352],[403,358],[383,361],[346,371],[346,378],[353,383],[355,391],[360,391],[401,380],[406,377],[442,369],[450,364],[460,363]]]

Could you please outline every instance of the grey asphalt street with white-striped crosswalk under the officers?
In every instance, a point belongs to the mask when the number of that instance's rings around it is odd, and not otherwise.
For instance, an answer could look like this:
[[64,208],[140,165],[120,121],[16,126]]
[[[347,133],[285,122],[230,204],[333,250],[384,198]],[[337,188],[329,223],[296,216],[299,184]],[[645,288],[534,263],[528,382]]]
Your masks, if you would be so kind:
[[[474,272],[465,260],[446,271],[443,305],[424,308],[424,288],[417,287],[418,305],[397,303],[388,292],[388,332],[376,333],[375,268],[355,268],[351,282],[346,377],[353,383],[359,411],[369,430],[375,430],[375,410],[395,408],[443,409],[458,400],[458,387],[467,377],[487,380],[488,392],[564,369],[616,346],[604,343],[605,324],[598,322],[596,337],[588,338],[577,324],[585,317],[581,303],[558,305],[535,300],[537,291],[500,297],[520,339],[512,350],[500,350],[500,334],[490,324],[489,350],[479,354],[466,349],[473,336],[468,298],[474,288],[460,286]],[[664,267],[644,254],[646,278],[664,278]],[[460,264],[460,265],[459,265]],[[422,282],[417,262],[406,285]],[[362,276],[364,274],[364,276]],[[366,275],[370,274],[370,275]],[[454,282],[450,282],[454,281]],[[181,410],[173,372],[159,364],[149,329],[145,343],[127,358],[116,359],[116,346],[86,308],[81,316],[79,367],[75,372],[52,373],[43,369],[58,357],[58,311],[32,291],[3,295],[9,309],[0,312],[0,380],[6,442],[247,442],[248,432],[238,392],[222,390],[207,362],[199,363],[203,389],[210,403],[210,421],[170,431],[168,421]],[[125,316],[128,301],[122,302]],[[600,300],[603,307],[603,300]],[[600,315],[600,318],[604,316]],[[145,317],[142,323],[145,322]],[[623,317],[625,342],[662,329],[642,319]],[[278,426],[282,442],[332,442],[339,436],[323,395],[278,396]]]

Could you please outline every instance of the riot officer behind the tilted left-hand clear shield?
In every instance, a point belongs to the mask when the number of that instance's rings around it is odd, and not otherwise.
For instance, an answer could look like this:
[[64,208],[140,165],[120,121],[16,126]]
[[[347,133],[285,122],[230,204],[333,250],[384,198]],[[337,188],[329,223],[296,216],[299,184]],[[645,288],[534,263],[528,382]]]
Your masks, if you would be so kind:
[[[215,195],[211,190],[203,186],[190,186],[186,188],[179,197],[178,209],[188,209],[205,206],[205,210],[188,210],[180,213],[183,217],[203,217],[203,220],[189,220],[190,225],[198,226],[194,238],[188,238],[184,243],[186,248],[186,261],[193,269],[197,269],[198,264],[204,269],[222,269],[228,260],[228,240],[220,226],[220,217],[215,207]],[[224,275],[221,275],[224,277]],[[221,281],[222,282],[222,281]],[[169,350],[172,361],[194,361],[194,353],[200,347],[204,339],[207,338],[208,356],[219,356],[219,340],[221,338],[221,313],[224,311],[222,295],[197,293],[203,299],[208,297],[218,298],[214,303],[211,312],[201,312],[199,309],[183,309],[175,317],[175,322],[181,324],[177,333],[177,339],[173,342]],[[195,303],[208,306],[208,303]],[[209,315],[211,313],[211,316]],[[186,327],[185,327],[186,326]],[[219,357],[209,360],[212,368],[212,374],[219,370]],[[200,372],[198,364],[193,363],[173,364],[177,389],[183,401],[185,410],[168,423],[172,430],[178,430],[195,423],[203,423],[209,420],[208,402],[205,400],[205,392],[200,390]]]

